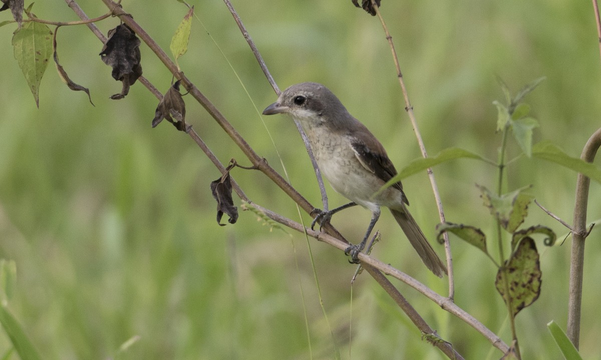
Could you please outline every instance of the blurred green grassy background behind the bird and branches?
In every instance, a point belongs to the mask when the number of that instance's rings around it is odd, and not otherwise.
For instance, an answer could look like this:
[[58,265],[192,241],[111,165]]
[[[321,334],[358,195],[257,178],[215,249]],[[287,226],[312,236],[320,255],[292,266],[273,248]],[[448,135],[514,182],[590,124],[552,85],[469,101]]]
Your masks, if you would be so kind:
[[[100,1],[79,4],[91,17],[106,12]],[[314,174],[292,122],[285,116],[263,122],[257,112],[276,96],[227,8],[218,0],[192,4],[251,98],[197,20],[180,59],[186,76],[283,172],[279,152],[291,183],[319,206]],[[397,168],[419,157],[377,18],[350,0],[233,4],[282,89],[324,83],[379,137]],[[167,51],[186,13],[176,1],[125,0],[123,7]],[[381,10],[430,154],[459,146],[496,158],[500,136],[492,101],[502,100],[502,92],[495,76],[513,91],[547,77],[526,98],[541,125],[535,141],[549,139],[578,156],[601,125],[601,61],[589,2],[384,0]],[[34,12],[44,19],[76,20],[61,1],[38,2]],[[9,17],[3,12],[0,21]],[[111,18],[98,25],[106,34],[117,24]],[[328,328],[304,236],[270,231],[251,212],[241,211],[235,225],[218,226],[209,191],[218,170],[167,122],[150,127],[157,101],[141,84],[124,100],[109,100],[121,83],[112,79],[98,56],[102,44],[84,26],[61,29],[59,57],[70,77],[90,88],[96,107],[85,94],[67,89],[50,64],[37,109],[13,58],[14,28],[0,28],[0,257],[16,261],[18,283],[9,307],[44,359],[329,359],[335,346],[343,359],[443,358],[367,274],[351,293],[355,266],[340,251],[311,240]],[[144,44],[141,52],[144,76],[166,91],[171,75]],[[203,108],[191,97],[185,100],[187,120],[219,159],[248,164]],[[510,154],[517,154],[511,142]],[[464,160],[438,166],[435,174],[447,219],[492,234],[492,219],[474,183],[493,187],[495,169]],[[233,176],[252,200],[298,220],[294,203],[261,173],[236,169]],[[510,190],[534,184],[537,200],[569,223],[575,180],[575,173],[535,160],[508,167]],[[433,239],[438,220],[426,173],[406,179],[404,188],[413,215]],[[344,203],[328,190],[332,206]],[[591,221],[601,217],[599,197],[594,183]],[[364,209],[349,209],[333,223],[358,241],[369,217]],[[535,206],[526,224],[567,233]],[[446,280],[416,259],[387,212],[377,229],[383,241],[374,256],[447,293]],[[597,240],[593,232],[585,262],[585,358],[599,356]],[[570,240],[554,248],[537,243],[542,295],[517,316],[518,335],[524,359],[560,359],[546,323],[556,320],[565,328]],[[435,248],[443,253],[440,245]],[[509,342],[504,305],[493,285],[495,268],[456,238],[453,256],[457,304]],[[466,358],[501,357],[465,323],[393,282]],[[139,340],[120,352],[135,336]],[[9,346],[0,334],[0,355]]]

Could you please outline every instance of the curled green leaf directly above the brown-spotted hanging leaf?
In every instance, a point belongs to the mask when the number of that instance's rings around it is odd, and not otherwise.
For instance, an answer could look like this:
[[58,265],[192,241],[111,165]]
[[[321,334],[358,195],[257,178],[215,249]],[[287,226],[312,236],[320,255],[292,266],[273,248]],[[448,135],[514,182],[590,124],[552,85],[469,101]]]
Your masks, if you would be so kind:
[[503,229],[513,233],[528,215],[528,205],[532,201],[532,195],[523,193],[531,188],[531,185],[519,188],[508,194],[496,196],[482,185],[476,184],[480,189],[484,206],[489,208],[490,214],[498,218]]

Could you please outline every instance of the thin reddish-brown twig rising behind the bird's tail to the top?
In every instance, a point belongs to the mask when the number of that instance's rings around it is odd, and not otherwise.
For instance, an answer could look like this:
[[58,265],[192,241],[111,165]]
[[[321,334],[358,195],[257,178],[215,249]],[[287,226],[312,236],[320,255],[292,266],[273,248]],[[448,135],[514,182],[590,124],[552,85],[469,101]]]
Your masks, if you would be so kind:
[[[397,52],[394,49],[394,43],[392,42],[392,36],[390,35],[390,32],[388,31],[388,26],[386,26],[386,22],[384,21],[384,18],[382,17],[382,14],[380,14],[380,9],[379,7],[376,5],[376,2],[374,0],[371,0],[371,4],[374,8],[374,10],[376,11],[376,15],[377,17],[380,19],[380,23],[382,23],[382,28],[384,29],[384,32],[386,34],[386,40],[388,40],[388,44],[390,46],[390,50],[392,52],[392,59],[394,60],[394,66],[397,70],[397,77],[398,77],[398,82],[401,85],[401,91],[403,92],[403,97],[405,100],[405,110],[407,111],[407,114],[409,115],[409,119],[411,121],[411,125],[413,127],[413,132],[415,133],[415,137],[417,138],[417,142],[419,144],[419,150],[421,151],[421,155],[424,158],[428,157],[428,154],[426,152],[426,145],[424,145],[424,140],[421,137],[421,133],[419,132],[419,127],[417,125],[417,120],[415,118],[415,114],[413,113],[413,106],[411,105],[410,101],[409,101],[409,93],[407,92],[407,88],[405,87],[405,82],[403,80],[403,73],[401,73],[401,67],[398,63],[398,56],[397,56]],[[436,184],[436,179],[434,178],[434,172],[432,171],[432,168],[429,168],[427,170],[428,172],[428,177],[430,178],[430,185],[432,186],[432,191],[434,193],[434,197],[436,200],[436,207],[438,208],[438,216],[441,220],[441,223],[445,223],[445,212],[444,209],[442,209],[442,200],[441,200],[441,194],[438,191],[438,185]],[[448,237],[448,233],[444,233],[444,240],[445,240],[445,254],[447,255],[447,271],[448,271],[448,281],[449,281],[449,298],[451,300],[453,300],[453,298],[455,297],[455,281],[454,281],[454,275],[453,275],[453,254],[451,254],[451,243],[449,241],[449,237]]]

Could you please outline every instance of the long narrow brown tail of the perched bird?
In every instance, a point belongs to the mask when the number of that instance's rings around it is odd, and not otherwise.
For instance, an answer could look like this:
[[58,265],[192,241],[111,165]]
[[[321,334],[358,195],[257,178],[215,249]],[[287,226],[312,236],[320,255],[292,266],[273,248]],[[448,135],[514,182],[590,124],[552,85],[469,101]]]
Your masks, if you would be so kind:
[[[404,207],[404,206],[403,206]],[[436,255],[432,245],[424,236],[424,233],[419,229],[418,224],[415,222],[409,211],[404,208],[402,210],[390,210],[397,223],[403,229],[405,235],[409,239],[413,248],[421,257],[421,260],[436,276],[442,277],[447,274],[447,267],[442,263],[441,259]]]

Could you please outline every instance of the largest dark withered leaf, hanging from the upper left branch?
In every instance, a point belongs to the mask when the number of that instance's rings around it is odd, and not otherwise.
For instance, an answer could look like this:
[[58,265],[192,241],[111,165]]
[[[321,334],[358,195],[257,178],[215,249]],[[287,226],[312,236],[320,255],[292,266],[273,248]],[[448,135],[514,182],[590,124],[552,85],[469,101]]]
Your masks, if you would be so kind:
[[123,82],[120,94],[112,95],[112,99],[122,99],[142,75],[140,65],[140,40],[135,32],[125,24],[109,30],[108,40],[100,52],[100,57],[106,65],[113,68],[112,77]]

